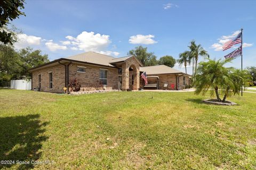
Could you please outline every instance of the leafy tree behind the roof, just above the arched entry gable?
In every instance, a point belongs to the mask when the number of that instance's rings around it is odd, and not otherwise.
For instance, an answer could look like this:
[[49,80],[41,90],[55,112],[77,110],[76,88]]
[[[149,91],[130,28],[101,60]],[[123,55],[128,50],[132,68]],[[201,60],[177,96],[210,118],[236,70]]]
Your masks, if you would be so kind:
[[130,50],[128,55],[135,55],[139,61],[145,66],[157,65],[154,53],[147,52],[147,47],[138,46]]

